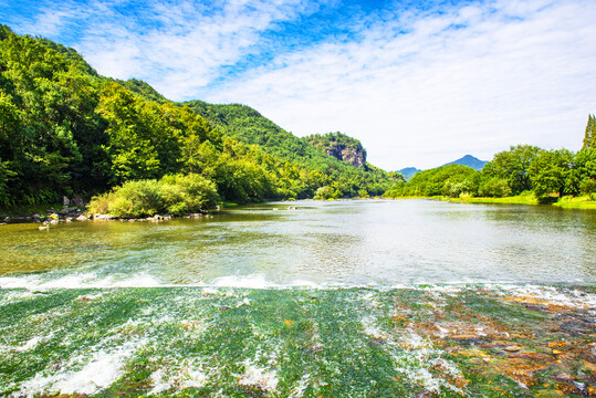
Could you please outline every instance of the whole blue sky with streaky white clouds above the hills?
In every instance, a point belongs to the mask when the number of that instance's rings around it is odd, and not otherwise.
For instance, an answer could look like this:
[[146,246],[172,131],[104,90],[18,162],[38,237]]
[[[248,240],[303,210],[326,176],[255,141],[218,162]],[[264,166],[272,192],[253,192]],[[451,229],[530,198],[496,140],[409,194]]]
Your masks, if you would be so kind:
[[175,101],[343,132],[387,170],[514,144],[579,149],[596,113],[594,0],[0,0],[0,22]]

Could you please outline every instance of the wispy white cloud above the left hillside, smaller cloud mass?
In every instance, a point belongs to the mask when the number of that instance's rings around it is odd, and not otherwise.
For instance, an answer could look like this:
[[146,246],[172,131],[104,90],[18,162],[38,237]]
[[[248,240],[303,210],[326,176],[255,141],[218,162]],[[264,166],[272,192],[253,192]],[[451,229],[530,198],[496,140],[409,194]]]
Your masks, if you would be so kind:
[[[260,33],[304,10],[297,1],[227,1],[220,10],[194,2],[149,2],[140,15],[158,27],[139,34],[139,23],[121,25],[122,18],[105,15],[86,30],[76,46],[98,72],[149,81],[166,97],[198,97],[217,80],[220,69],[233,65],[258,44]],[[109,32],[109,33],[106,33]],[[115,62],[115,60],[119,60]]]

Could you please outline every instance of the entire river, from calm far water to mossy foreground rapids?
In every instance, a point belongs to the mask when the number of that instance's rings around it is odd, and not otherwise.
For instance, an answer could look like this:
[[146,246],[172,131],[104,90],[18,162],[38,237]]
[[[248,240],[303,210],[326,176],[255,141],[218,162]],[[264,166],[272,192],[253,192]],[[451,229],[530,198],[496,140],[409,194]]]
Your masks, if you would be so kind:
[[[48,231],[2,226],[0,395],[562,388],[547,366],[534,384],[505,370],[482,378],[452,355],[482,343],[480,363],[503,360],[505,343],[494,342],[510,336],[535,355],[557,338],[587,347],[583,359],[553,357],[553,366],[596,388],[582,367],[596,336],[595,237],[593,211],[428,200],[272,202]],[[540,341],[533,331],[546,324]]]

